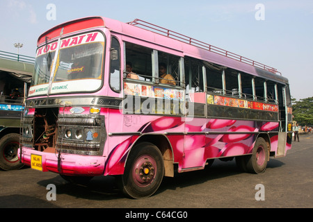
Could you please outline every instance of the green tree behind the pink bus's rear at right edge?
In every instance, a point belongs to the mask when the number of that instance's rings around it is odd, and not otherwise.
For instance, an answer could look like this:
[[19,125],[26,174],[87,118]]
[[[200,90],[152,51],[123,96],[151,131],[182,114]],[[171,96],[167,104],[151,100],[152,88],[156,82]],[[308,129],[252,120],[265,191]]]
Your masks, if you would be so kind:
[[313,97],[306,99],[292,99],[292,114],[294,121],[302,126],[313,126]]

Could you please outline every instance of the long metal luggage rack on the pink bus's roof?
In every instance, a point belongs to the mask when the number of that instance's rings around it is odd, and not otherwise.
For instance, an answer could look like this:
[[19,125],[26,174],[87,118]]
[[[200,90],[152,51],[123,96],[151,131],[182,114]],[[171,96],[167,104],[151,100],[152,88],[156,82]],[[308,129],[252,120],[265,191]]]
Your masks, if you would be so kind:
[[152,31],[154,33],[158,33],[160,35],[164,35],[166,37],[170,37],[172,39],[179,40],[179,41],[187,43],[187,44],[191,44],[193,46],[197,46],[201,49],[205,49],[205,50],[208,50],[208,51],[211,51],[214,53],[218,53],[221,56],[225,56],[227,58],[232,58],[232,59],[237,60],[239,62],[243,62],[243,63],[246,63],[248,65],[252,65],[253,67],[258,67],[260,69],[264,69],[266,71],[271,71],[274,74],[280,74],[280,76],[282,76],[282,74],[277,69],[274,69],[273,67],[269,67],[269,66],[264,65],[260,62],[250,60],[249,58],[246,58],[243,56],[239,56],[238,54],[232,53],[230,51],[226,51],[225,49],[220,49],[216,46],[212,46],[211,44],[207,44],[205,42],[195,40],[192,37],[188,37],[186,35],[176,33],[175,31],[170,31],[167,28],[163,28],[161,26],[157,26],[157,25],[151,24],[149,22],[145,22],[141,19],[134,19],[134,21],[132,21],[132,22],[127,22],[127,24],[129,24],[131,26],[138,26],[140,28],[144,28],[148,31]]

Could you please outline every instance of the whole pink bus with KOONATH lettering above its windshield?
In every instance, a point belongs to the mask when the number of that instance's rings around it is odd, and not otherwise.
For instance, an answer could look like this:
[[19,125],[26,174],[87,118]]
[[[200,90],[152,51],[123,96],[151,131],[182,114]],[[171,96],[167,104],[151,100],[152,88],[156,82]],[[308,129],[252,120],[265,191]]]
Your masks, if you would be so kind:
[[38,38],[19,157],[70,182],[115,176],[131,198],[233,160],[262,173],[291,148],[287,78],[141,20],[65,22]]

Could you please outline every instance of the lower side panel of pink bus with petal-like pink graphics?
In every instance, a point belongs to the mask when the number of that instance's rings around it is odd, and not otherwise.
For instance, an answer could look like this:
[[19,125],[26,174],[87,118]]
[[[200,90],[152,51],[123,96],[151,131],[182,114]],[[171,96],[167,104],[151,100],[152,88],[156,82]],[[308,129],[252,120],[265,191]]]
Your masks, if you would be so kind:
[[[149,121],[148,119],[151,119]],[[156,119],[154,119],[156,118]],[[279,123],[233,119],[199,119],[184,121],[181,117],[143,117],[137,127],[142,135],[166,135],[178,170],[204,167],[211,158],[233,157],[252,153],[258,133],[277,130]],[[122,174],[131,146],[140,136],[123,137],[109,153],[105,175]],[[111,137],[113,139],[113,137]],[[271,135],[271,151],[277,150],[277,134]]]

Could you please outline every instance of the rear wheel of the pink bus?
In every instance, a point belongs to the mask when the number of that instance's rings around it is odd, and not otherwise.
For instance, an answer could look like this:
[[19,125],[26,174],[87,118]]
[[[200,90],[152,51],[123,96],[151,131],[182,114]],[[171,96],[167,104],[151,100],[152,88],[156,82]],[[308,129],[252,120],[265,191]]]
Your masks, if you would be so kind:
[[268,162],[268,147],[265,139],[257,138],[252,155],[236,157],[237,167],[248,173],[263,173]]

